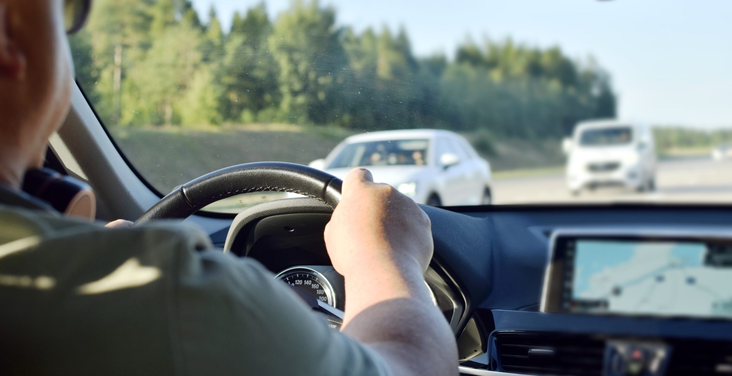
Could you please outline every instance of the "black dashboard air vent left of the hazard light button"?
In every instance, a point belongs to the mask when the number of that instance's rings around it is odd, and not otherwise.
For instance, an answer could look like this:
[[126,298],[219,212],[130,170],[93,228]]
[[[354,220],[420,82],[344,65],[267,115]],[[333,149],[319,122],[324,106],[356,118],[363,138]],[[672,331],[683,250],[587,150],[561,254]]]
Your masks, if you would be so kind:
[[494,369],[528,375],[602,375],[605,341],[529,332],[493,334]]

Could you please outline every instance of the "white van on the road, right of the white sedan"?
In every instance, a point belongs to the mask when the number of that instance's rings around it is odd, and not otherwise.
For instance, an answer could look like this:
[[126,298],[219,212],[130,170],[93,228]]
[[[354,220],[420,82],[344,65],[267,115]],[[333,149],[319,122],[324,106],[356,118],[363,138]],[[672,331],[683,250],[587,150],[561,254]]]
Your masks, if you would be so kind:
[[582,189],[620,186],[638,192],[656,188],[653,132],[632,121],[583,121],[563,143],[567,157],[567,187]]

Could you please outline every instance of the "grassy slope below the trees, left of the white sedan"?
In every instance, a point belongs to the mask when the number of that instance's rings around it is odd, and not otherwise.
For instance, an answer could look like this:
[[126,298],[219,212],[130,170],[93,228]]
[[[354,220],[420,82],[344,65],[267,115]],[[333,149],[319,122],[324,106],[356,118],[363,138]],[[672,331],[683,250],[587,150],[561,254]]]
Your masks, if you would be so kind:
[[307,165],[345,137],[318,129],[111,129],[132,165],[161,192],[220,168],[247,162]]

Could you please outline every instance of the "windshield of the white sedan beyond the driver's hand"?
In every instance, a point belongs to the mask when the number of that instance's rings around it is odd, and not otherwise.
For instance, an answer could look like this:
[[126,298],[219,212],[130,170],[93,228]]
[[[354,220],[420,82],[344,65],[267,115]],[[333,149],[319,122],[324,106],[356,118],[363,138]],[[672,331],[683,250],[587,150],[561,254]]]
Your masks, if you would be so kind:
[[382,140],[348,143],[329,168],[427,165],[429,140]]

